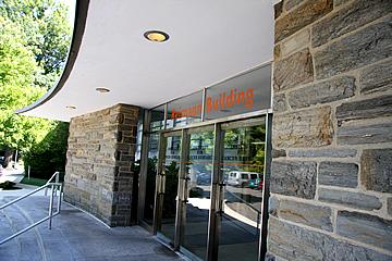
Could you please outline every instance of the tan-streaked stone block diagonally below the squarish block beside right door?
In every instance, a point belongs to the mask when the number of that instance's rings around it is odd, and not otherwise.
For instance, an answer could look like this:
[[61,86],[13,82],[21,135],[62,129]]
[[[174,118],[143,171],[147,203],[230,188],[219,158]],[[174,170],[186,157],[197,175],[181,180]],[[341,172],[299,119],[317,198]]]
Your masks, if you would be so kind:
[[281,199],[275,209],[280,219],[332,232],[331,209],[328,207]]

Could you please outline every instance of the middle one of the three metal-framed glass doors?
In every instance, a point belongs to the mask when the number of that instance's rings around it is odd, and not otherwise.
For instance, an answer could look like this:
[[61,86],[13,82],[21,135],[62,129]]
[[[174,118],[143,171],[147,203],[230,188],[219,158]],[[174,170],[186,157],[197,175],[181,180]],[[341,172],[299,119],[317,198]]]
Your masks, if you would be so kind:
[[213,126],[188,129],[181,245],[196,259],[207,253],[211,204]]

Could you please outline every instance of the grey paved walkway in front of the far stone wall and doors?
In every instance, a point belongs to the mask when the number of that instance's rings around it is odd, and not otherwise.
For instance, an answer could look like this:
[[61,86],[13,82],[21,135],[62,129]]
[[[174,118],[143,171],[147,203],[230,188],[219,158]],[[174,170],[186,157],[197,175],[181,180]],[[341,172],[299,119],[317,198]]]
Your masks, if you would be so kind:
[[[26,188],[23,190],[28,190]],[[22,189],[21,189],[22,190]],[[20,194],[21,190],[13,190]],[[7,192],[7,194],[5,194]],[[0,191],[0,204],[14,199]],[[36,196],[0,210],[0,239],[48,212],[49,197]],[[0,246],[1,261],[128,261],[183,260],[139,226],[109,228],[63,203],[61,214]]]

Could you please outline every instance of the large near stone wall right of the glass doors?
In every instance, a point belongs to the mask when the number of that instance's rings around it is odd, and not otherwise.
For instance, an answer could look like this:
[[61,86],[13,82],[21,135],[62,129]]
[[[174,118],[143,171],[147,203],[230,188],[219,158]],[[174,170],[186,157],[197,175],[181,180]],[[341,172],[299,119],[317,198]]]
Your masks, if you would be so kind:
[[275,5],[269,260],[392,260],[392,1]]

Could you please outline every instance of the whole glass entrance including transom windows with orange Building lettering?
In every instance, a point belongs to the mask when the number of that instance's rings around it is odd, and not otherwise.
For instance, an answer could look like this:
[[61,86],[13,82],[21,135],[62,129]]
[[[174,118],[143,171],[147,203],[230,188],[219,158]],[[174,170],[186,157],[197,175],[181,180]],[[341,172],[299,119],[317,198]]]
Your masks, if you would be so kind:
[[193,260],[264,260],[270,108],[268,63],[148,110],[139,224]]

